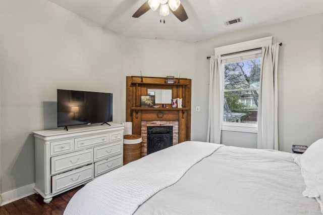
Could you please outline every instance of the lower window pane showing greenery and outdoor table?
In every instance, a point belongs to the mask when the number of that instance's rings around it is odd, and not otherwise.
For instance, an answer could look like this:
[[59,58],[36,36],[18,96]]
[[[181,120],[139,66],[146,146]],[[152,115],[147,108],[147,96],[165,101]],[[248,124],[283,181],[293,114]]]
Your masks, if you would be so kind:
[[257,114],[258,90],[239,90],[224,93],[223,121],[257,123]]

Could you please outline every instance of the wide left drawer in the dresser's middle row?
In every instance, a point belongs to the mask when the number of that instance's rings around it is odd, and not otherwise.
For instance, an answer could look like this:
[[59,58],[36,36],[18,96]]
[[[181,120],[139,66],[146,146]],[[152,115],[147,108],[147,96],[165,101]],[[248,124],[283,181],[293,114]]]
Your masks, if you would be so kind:
[[92,148],[51,157],[51,174],[71,170],[93,162]]

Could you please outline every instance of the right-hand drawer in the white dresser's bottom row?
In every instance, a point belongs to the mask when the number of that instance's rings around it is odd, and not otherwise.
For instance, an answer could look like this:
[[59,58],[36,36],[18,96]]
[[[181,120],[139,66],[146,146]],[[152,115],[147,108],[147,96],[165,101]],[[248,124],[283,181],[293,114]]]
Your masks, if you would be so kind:
[[109,157],[94,163],[94,177],[122,166],[122,155]]

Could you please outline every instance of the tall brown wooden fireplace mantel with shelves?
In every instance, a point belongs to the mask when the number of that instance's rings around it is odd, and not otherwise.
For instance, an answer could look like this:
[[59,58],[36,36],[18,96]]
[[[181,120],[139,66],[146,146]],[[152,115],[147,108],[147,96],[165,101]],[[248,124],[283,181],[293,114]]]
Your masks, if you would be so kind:
[[[179,83],[178,83],[179,82]],[[132,133],[141,135],[142,121],[178,121],[178,142],[190,140],[191,136],[191,79],[181,78],[173,84],[165,78],[127,76],[126,79],[126,121],[132,122]],[[156,103],[159,108],[141,108],[140,96],[147,95],[147,89],[171,89],[172,98],[183,98],[183,108],[172,108]]]

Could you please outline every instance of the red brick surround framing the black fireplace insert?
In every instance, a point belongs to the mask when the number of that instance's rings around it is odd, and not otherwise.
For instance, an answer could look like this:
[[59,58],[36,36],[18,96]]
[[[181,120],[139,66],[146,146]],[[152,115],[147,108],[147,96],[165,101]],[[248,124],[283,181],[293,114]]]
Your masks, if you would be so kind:
[[178,143],[178,121],[141,121],[141,156],[147,155],[147,127],[153,126],[172,126],[173,145]]

